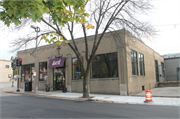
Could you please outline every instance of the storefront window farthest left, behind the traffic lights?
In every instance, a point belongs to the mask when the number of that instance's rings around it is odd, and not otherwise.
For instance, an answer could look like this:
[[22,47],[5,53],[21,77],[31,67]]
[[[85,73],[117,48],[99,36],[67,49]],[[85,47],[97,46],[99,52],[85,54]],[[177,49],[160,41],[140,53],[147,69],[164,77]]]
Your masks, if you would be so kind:
[[21,66],[21,81],[32,81],[34,64]]

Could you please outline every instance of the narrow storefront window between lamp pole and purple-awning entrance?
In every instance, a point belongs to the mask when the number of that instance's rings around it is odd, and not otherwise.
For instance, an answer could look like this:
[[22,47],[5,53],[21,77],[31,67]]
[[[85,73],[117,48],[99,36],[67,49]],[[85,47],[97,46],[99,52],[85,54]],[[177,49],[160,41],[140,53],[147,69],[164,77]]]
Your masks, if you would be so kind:
[[39,63],[39,81],[47,80],[47,62]]

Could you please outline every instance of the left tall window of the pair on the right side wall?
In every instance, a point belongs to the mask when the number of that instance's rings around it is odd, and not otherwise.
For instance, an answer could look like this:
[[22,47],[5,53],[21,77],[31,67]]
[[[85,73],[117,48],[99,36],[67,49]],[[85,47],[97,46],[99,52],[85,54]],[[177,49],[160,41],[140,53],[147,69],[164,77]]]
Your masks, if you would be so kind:
[[[136,53],[136,57],[134,56],[134,53]],[[133,54],[133,57],[132,57]],[[135,59],[136,58],[136,59]],[[132,65],[132,75],[139,76],[139,69],[138,69],[138,53],[135,50],[131,49],[131,65]],[[133,67],[134,66],[134,67]],[[136,71],[134,70],[136,69]]]

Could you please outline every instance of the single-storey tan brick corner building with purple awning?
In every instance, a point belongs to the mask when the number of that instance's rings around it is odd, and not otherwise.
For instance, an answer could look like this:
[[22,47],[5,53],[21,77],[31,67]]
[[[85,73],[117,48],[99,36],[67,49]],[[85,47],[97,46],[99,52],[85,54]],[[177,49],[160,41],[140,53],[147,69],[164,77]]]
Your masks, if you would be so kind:
[[[92,63],[89,77],[90,93],[132,95],[142,90],[152,89],[157,81],[164,80],[164,77],[160,77],[159,68],[156,72],[155,65],[155,60],[158,65],[161,62],[164,63],[163,57],[140,40],[127,34],[125,30],[120,30],[106,33],[103,37]],[[89,49],[92,48],[93,38],[94,36],[88,37]],[[83,38],[75,41],[82,53],[82,58],[85,59]],[[56,58],[57,45],[38,47],[37,88],[44,90],[44,84],[49,83],[52,85],[51,91],[60,90],[64,83],[69,92],[82,92],[83,77],[76,55],[67,44],[62,43],[60,47],[61,58]],[[32,72],[35,62],[34,54],[31,55],[33,51],[34,49],[28,49],[18,52],[18,57],[23,59],[22,73],[20,73],[21,88],[24,88],[24,81],[33,82]],[[86,61],[83,61],[86,65]],[[58,63],[61,64],[60,67],[56,66]],[[63,79],[65,79],[64,82]]]

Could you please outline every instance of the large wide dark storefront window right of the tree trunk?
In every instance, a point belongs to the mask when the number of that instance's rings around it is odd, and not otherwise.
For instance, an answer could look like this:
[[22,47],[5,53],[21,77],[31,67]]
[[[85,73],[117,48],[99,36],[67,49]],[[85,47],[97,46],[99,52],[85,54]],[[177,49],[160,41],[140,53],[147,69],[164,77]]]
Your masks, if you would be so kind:
[[91,67],[91,78],[118,77],[117,53],[95,56]]

